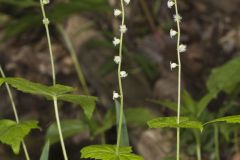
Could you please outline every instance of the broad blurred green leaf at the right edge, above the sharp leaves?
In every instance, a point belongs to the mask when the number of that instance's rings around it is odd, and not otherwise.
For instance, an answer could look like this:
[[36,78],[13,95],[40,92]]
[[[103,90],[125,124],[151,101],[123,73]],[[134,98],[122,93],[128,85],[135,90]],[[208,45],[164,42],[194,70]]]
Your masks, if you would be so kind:
[[207,88],[212,90],[224,90],[229,93],[229,89],[240,83],[240,58],[225,63],[212,70],[207,81]]

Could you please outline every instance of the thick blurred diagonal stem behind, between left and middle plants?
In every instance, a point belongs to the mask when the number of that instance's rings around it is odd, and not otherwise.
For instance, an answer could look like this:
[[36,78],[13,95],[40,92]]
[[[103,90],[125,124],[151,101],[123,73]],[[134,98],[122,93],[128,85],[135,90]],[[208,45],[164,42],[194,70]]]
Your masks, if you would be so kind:
[[70,52],[70,55],[71,55],[71,58],[73,60],[75,69],[77,71],[78,79],[81,83],[81,86],[83,87],[84,94],[90,95],[90,92],[89,92],[89,89],[88,89],[88,86],[87,86],[87,82],[86,82],[86,79],[85,79],[83,71],[82,71],[82,67],[81,67],[81,65],[78,61],[78,58],[77,58],[76,50],[74,49],[73,44],[72,44],[68,34],[63,29],[63,27],[61,25],[57,25],[57,28],[58,28],[60,34],[63,37],[63,40],[66,44],[67,49]]

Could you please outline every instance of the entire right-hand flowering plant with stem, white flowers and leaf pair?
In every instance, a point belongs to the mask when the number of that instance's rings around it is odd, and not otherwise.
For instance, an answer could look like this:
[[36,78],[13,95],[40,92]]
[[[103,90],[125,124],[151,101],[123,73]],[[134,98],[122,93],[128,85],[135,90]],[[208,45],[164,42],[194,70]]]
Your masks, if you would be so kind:
[[169,9],[174,8],[175,14],[173,15],[173,19],[176,22],[177,30],[170,29],[170,37],[177,37],[177,62],[170,62],[170,69],[174,70],[178,68],[178,98],[177,98],[177,117],[160,117],[157,119],[150,120],[148,125],[150,128],[177,128],[177,143],[176,143],[176,159],[180,160],[180,128],[197,128],[202,130],[202,124],[198,121],[193,121],[188,117],[181,117],[181,54],[184,53],[187,49],[185,44],[181,44],[181,29],[180,23],[182,21],[182,17],[178,12],[178,4],[177,0],[168,0],[167,6]]

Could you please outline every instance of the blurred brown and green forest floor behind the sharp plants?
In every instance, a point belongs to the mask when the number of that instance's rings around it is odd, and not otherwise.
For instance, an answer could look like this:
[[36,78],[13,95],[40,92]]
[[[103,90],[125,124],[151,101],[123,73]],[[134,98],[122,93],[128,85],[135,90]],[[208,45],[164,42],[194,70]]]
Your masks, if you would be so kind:
[[[175,61],[175,41],[168,32],[174,27],[172,13],[164,0],[138,0],[127,8],[128,34],[124,44],[124,68],[129,79],[124,80],[125,135],[135,151],[146,160],[172,159],[174,130],[149,130],[146,121],[156,116],[175,115],[177,95],[176,71],[170,71],[169,61]],[[182,115],[202,122],[239,113],[240,59],[238,0],[179,1],[183,16],[182,41],[188,44],[183,55]],[[78,79],[67,41],[58,26],[69,36],[81,65],[89,94],[99,97],[94,117],[88,120],[69,104],[61,104],[64,137],[70,159],[79,159],[79,149],[88,144],[115,143],[117,116],[112,102],[116,90],[117,53],[112,37],[118,33],[118,19],[113,16],[116,0],[52,0],[47,6],[50,31],[61,83],[84,88]],[[49,83],[49,59],[42,26],[39,2],[35,0],[0,0],[0,64],[8,76],[20,76]],[[71,48],[71,47],[70,47]],[[4,89],[1,99],[7,99]],[[15,92],[22,119],[40,121],[42,130],[27,139],[33,159],[50,139],[50,159],[62,158],[51,103],[41,98]],[[1,118],[11,118],[8,101],[1,101]],[[221,159],[239,159],[239,129],[237,125],[217,126]],[[202,134],[184,130],[182,151],[185,160],[195,159],[196,141],[202,143],[203,160],[215,159],[213,126]],[[127,136],[126,136],[127,137]],[[127,139],[124,143],[127,143]],[[47,143],[46,143],[47,144]],[[47,146],[47,145],[46,145]],[[1,145],[0,157],[19,159]],[[56,155],[58,157],[56,157]],[[23,156],[22,154],[20,156]]]

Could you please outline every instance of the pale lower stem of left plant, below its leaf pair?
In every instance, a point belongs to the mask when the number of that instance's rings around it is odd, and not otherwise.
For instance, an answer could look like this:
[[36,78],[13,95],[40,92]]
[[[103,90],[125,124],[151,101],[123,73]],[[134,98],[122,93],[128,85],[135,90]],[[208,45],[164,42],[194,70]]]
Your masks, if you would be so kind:
[[67,152],[66,152],[65,144],[64,144],[64,140],[63,140],[63,135],[62,135],[60,119],[59,119],[57,97],[53,97],[53,102],[54,102],[54,110],[55,110],[56,122],[57,122],[57,127],[58,127],[58,132],[59,132],[59,138],[60,138],[60,142],[61,142],[61,146],[62,146],[62,150],[63,150],[63,156],[64,156],[65,160],[68,160]]

